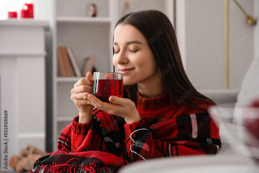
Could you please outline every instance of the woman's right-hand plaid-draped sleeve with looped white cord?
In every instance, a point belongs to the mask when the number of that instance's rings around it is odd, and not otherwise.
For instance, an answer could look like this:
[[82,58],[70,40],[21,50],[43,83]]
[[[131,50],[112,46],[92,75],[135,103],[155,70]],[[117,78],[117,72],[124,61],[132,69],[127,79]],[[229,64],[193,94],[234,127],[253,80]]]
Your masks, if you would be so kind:
[[208,112],[180,116],[152,126],[142,119],[124,127],[129,162],[164,156],[215,154],[221,147],[219,126]]

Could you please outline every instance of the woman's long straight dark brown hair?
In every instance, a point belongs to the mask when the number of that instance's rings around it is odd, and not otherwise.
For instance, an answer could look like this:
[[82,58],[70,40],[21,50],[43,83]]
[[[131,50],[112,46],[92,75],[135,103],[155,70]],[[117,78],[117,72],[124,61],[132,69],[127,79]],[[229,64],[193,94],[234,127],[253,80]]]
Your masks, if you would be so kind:
[[[171,102],[202,109],[206,108],[194,104],[193,101],[216,105],[214,101],[199,93],[188,79],[184,71],[174,28],[164,13],[158,10],[133,12],[121,17],[115,28],[118,24],[134,26],[148,40],[157,67],[160,72],[167,72],[162,76],[162,91],[170,95]],[[157,33],[160,35],[157,35]],[[167,70],[169,65],[172,68]],[[137,84],[124,85],[123,97],[131,99],[136,104],[137,89]]]

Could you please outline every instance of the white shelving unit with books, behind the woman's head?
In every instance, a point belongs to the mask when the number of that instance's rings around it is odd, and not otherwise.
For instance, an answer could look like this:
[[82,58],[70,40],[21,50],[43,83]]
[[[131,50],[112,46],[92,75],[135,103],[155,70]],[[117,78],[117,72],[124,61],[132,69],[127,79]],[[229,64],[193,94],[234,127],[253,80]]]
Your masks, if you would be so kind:
[[[51,17],[53,20],[50,23],[53,31],[52,44],[57,46],[61,42],[62,46],[71,46],[79,66],[82,65],[85,57],[94,54],[96,55],[95,67],[97,71],[112,72],[114,26],[117,20],[123,16],[124,2],[119,0],[63,0],[56,4],[53,1],[53,16]],[[174,0],[153,0],[148,1],[147,4],[145,1],[139,0],[129,2],[132,11],[157,9],[164,12],[174,23]],[[96,17],[85,15],[85,7],[88,3],[99,4]],[[141,3],[144,3],[145,6]],[[69,35],[71,29],[74,33]],[[67,34],[70,37],[65,39],[64,36]],[[100,45],[104,45],[104,47],[101,48]],[[49,139],[53,144],[53,151],[57,150],[57,141],[61,130],[72,122],[73,116],[79,113],[74,102],[70,100],[70,91],[80,78],[60,77],[57,54],[54,52],[53,136],[52,139]]]

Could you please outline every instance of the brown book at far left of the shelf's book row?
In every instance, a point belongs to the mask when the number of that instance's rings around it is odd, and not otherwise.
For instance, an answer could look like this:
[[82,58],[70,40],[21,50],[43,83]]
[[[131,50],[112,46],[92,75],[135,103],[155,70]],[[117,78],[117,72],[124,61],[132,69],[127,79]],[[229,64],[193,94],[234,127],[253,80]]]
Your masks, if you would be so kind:
[[67,54],[67,49],[64,46],[57,48],[57,60],[60,67],[62,77],[73,76],[71,63]]

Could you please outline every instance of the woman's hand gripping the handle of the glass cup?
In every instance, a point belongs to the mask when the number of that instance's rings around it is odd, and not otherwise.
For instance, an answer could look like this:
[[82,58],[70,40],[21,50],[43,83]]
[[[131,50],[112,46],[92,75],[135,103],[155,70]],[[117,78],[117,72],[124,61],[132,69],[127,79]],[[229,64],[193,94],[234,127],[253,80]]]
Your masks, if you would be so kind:
[[71,90],[71,100],[75,102],[75,105],[79,110],[79,123],[89,123],[92,119],[93,106],[88,104],[86,98],[84,99],[85,92],[92,92],[92,77],[92,73],[88,72],[86,74],[86,79],[79,79]]

